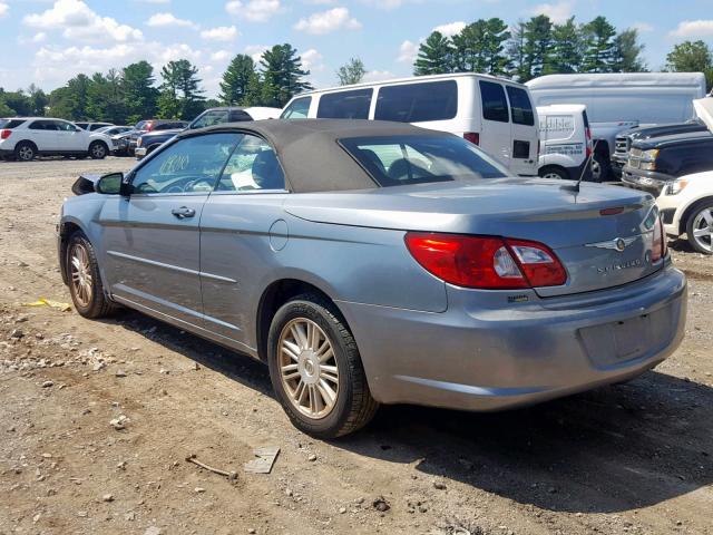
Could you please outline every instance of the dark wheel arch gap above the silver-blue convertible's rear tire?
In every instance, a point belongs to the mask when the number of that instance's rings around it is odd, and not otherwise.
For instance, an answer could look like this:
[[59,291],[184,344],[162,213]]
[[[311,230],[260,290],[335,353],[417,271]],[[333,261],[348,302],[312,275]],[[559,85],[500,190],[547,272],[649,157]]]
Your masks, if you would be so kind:
[[280,307],[285,304],[291,299],[304,293],[314,293],[329,301],[334,307],[334,311],[339,314],[340,321],[342,321],[344,325],[350,329],[344,314],[339,309],[339,305],[322,288],[319,288],[314,283],[306,282],[302,279],[279,279],[276,281],[273,281],[263,291],[257,304],[257,313],[255,315],[255,340],[257,342],[257,357],[263,362],[267,362],[267,334],[270,332],[272,318],[275,315],[275,312],[277,312]]

